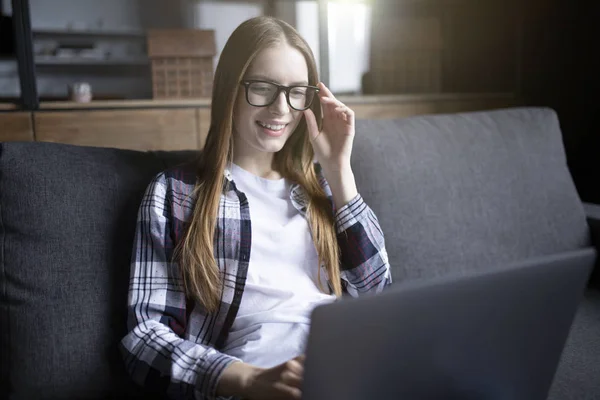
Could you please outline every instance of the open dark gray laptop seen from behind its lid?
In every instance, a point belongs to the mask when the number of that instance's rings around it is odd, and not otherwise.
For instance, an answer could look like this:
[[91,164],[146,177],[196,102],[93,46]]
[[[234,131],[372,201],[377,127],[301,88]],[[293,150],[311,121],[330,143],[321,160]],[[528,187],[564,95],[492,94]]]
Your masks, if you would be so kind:
[[303,399],[546,399],[596,252],[317,307]]

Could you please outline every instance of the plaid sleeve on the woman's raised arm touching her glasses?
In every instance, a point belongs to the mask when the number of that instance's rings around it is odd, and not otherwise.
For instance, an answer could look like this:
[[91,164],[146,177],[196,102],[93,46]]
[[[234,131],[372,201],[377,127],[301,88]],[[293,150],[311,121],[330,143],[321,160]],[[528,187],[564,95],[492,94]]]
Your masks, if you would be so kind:
[[335,214],[341,277],[354,297],[380,292],[392,282],[383,232],[360,194]]

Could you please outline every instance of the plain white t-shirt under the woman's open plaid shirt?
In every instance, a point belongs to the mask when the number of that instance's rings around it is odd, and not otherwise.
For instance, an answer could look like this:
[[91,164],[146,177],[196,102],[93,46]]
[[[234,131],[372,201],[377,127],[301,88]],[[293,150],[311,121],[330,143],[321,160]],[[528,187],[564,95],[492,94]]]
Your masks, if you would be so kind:
[[[240,309],[223,352],[273,367],[304,353],[312,309],[335,296],[317,284],[317,252],[307,220],[290,200],[290,183],[237,165],[231,174],[248,198],[252,248]],[[325,276],[321,282],[327,290]]]

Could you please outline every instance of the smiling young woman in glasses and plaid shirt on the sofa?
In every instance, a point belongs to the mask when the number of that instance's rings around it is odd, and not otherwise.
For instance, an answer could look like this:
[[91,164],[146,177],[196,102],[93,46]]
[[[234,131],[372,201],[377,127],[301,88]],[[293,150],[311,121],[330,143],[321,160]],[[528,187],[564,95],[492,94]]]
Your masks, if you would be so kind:
[[300,398],[312,309],[391,282],[350,167],[354,114],[318,82],[285,22],[231,35],[200,160],[159,174],[140,206],[121,342],[139,384]]

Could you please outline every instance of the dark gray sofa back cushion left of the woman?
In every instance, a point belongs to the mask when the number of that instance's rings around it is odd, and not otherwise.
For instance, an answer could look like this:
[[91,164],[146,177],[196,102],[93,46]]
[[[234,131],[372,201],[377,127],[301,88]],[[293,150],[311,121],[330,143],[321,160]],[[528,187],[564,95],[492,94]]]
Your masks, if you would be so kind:
[[137,208],[155,174],[192,154],[1,146],[3,395],[141,396],[116,347]]

